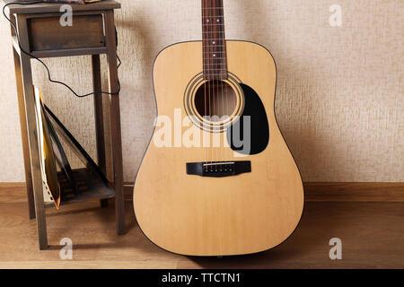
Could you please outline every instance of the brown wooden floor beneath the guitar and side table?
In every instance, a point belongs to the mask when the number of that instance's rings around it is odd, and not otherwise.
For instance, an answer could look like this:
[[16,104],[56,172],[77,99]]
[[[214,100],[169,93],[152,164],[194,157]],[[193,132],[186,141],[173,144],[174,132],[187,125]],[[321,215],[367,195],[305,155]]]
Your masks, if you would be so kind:
[[[115,233],[113,204],[48,210],[49,248],[39,251],[23,187],[0,188],[0,268],[404,268],[404,202],[323,202],[305,205],[283,244],[242,257],[183,257],[156,247],[139,230],[127,202],[127,234]],[[73,260],[59,242],[73,240]],[[329,239],[342,239],[342,260],[329,259]]]

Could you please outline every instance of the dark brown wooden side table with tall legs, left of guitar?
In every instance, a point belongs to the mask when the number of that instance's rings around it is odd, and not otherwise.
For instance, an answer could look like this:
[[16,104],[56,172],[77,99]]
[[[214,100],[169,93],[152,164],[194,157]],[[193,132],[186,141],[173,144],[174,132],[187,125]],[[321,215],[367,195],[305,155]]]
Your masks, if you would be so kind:
[[[3,2],[4,4],[9,4],[15,1],[3,0]],[[73,26],[67,27],[62,27],[59,22],[62,15],[60,6],[61,4],[11,4],[7,7],[9,17],[18,30],[22,49],[39,58],[91,55],[94,91],[101,91],[100,55],[107,54],[110,92],[118,91],[114,9],[119,9],[120,4],[112,0],[94,4],[73,4],[71,5],[73,8]],[[20,50],[13,29],[12,37],[29,213],[31,219],[36,218],[37,220],[40,249],[44,249],[48,247],[48,237],[40,171],[31,57]],[[101,97],[101,94],[94,95],[95,130],[98,164],[105,173],[106,161]],[[109,97],[113,186],[115,189],[117,231],[120,235],[125,232],[125,212],[122,189],[123,168],[119,94]],[[101,205],[105,205],[105,201],[101,202]]]

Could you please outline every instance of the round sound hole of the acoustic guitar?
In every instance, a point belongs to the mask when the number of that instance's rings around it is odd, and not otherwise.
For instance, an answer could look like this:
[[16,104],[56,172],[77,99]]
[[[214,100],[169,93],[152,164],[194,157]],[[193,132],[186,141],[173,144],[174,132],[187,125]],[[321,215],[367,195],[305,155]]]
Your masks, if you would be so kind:
[[232,86],[224,81],[206,81],[195,93],[195,108],[198,114],[212,122],[221,122],[232,116],[236,106],[236,93]]

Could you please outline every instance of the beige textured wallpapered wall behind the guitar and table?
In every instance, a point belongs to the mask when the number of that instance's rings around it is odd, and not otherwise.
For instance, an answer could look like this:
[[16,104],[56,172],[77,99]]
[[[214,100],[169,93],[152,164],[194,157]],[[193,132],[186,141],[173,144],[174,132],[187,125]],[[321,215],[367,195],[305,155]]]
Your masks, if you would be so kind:
[[[117,14],[125,180],[132,181],[154,122],[152,65],[174,42],[200,39],[198,0],[122,0]],[[329,6],[342,7],[342,27]],[[404,181],[400,0],[224,0],[228,39],[249,39],[277,60],[277,116],[306,181]],[[22,144],[9,27],[0,22],[0,181],[22,181]],[[90,59],[46,60],[52,75],[91,89]],[[92,99],[34,82],[94,156]],[[104,76],[105,78],[105,76]]]

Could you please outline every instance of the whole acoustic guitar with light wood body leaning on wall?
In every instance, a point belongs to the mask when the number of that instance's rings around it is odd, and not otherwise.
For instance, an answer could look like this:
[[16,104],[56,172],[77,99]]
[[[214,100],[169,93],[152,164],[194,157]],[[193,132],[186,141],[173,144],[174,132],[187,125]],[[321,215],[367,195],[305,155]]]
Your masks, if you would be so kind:
[[274,248],[303,212],[303,184],[277,125],[267,48],[224,37],[223,0],[202,0],[202,41],[154,62],[158,116],[136,174],[145,236],[188,256]]

